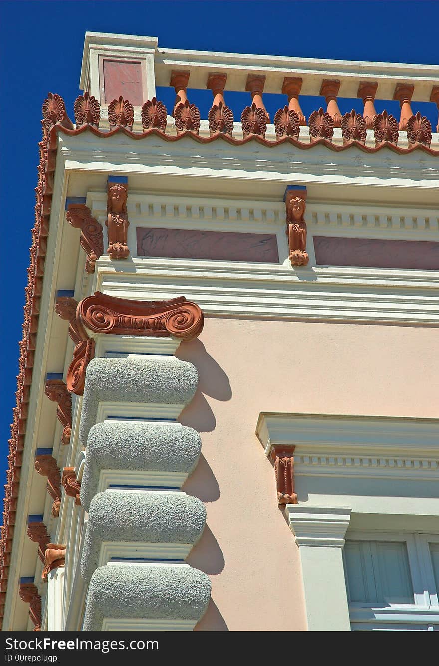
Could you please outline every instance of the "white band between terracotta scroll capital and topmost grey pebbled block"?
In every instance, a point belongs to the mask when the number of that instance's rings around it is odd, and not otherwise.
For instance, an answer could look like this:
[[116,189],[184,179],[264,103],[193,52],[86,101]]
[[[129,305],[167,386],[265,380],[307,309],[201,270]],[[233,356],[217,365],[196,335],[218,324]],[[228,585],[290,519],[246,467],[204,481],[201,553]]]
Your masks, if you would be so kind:
[[178,338],[148,338],[141,336],[111,336],[100,334],[96,341],[95,358],[120,358],[129,354],[145,356],[174,356],[181,340]]

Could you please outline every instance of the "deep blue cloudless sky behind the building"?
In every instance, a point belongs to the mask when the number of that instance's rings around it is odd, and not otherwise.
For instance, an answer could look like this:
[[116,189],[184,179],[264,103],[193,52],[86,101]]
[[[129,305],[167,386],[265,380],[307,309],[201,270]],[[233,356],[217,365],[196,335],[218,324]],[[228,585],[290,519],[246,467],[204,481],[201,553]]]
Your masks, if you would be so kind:
[[[439,64],[439,1],[171,0],[0,2],[2,35],[1,182],[5,231],[2,252],[0,475],[7,466],[9,424],[15,406],[24,288],[37,184],[41,105],[49,91],[64,97],[73,118],[86,31],[150,35],[159,47],[321,59]],[[174,93],[158,90],[170,108]],[[273,99],[268,111],[285,104]],[[192,95],[202,117],[212,100]],[[226,97],[235,119],[247,105],[240,93]],[[320,105],[302,104],[305,115]],[[355,101],[355,107],[361,101]],[[386,105],[396,114],[394,105]],[[340,104],[342,113],[350,111]],[[414,105],[432,124],[434,105]],[[346,108],[345,108],[346,107]],[[7,194],[7,196],[6,196]],[[41,443],[45,446],[47,442]],[[4,476],[4,474],[3,474]],[[3,481],[1,482],[3,483]]]

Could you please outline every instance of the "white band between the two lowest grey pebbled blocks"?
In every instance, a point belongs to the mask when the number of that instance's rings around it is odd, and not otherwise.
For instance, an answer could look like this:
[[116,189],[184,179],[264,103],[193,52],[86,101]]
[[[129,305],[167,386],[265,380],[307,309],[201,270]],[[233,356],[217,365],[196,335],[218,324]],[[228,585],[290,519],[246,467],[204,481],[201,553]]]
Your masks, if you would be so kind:
[[[142,543],[140,541],[104,541],[100,547],[98,567],[112,562],[124,564],[119,560],[130,559],[132,563],[150,564],[145,559],[168,564],[184,563],[192,550],[192,543]],[[140,561],[140,562],[139,562]]]

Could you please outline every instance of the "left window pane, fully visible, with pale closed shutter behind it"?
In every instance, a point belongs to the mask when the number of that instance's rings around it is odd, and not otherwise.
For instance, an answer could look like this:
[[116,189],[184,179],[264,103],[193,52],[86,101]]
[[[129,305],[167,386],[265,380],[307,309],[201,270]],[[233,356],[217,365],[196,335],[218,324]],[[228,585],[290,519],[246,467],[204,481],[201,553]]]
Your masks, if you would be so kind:
[[351,601],[414,603],[404,542],[347,541],[343,551]]

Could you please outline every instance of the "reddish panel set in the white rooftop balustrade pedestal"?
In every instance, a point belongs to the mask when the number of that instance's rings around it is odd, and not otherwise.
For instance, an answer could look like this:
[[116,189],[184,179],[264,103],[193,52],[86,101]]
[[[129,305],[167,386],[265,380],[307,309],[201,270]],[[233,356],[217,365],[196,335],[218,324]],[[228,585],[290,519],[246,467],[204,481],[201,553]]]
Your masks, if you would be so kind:
[[142,64],[127,60],[104,60],[105,103],[128,99],[134,107],[144,103],[142,90]]

